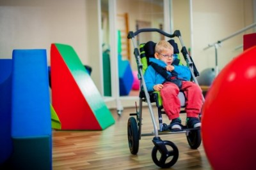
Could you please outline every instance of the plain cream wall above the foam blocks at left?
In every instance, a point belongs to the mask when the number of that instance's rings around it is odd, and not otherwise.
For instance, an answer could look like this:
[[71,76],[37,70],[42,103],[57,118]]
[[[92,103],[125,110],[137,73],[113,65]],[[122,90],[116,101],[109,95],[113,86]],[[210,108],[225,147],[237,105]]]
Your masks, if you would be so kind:
[[83,64],[92,66],[100,89],[99,32],[95,0],[1,0],[0,59],[12,58],[13,49],[47,49],[51,43],[70,45]]

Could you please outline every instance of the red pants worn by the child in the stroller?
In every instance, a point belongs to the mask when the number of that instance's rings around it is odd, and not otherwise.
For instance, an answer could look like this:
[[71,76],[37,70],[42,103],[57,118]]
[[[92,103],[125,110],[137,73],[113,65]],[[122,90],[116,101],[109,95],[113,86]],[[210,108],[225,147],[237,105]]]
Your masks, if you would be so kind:
[[[202,90],[192,81],[182,81],[181,90],[184,92],[186,99],[187,117],[198,117],[202,108]],[[179,87],[174,83],[164,83],[160,91],[163,99],[163,107],[169,120],[179,117],[180,99],[178,97]]]

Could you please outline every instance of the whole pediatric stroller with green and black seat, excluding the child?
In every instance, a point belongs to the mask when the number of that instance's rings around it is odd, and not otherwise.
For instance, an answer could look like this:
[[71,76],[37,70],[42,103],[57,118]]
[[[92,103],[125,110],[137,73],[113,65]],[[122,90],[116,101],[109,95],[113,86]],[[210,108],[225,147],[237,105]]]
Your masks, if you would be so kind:
[[[180,44],[182,45],[180,52],[182,53],[184,60],[186,61],[186,64],[191,71],[191,79],[192,79],[191,81],[195,81],[196,84],[198,84],[198,82],[196,81],[196,76],[199,76],[199,73],[195,67],[195,64],[193,63],[192,58],[189,56],[186,50],[186,46],[184,46],[180,31],[177,30],[173,34],[168,34],[164,31],[161,31],[160,29],[139,29],[136,32],[132,32],[132,31],[129,32],[128,38],[132,39],[132,43],[134,46],[134,55],[135,55],[136,63],[138,66],[138,78],[140,80],[139,110],[137,110],[137,106],[136,106],[136,113],[130,114],[131,117],[129,118],[127,123],[127,136],[128,136],[129,149],[133,155],[136,155],[139,150],[139,140],[141,139],[141,136],[154,136],[154,138],[152,139],[154,143],[154,148],[152,149],[152,160],[157,166],[166,168],[166,167],[173,166],[177,162],[177,159],[179,157],[179,150],[177,146],[174,143],[172,143],[172,141],[163,141],[159,137],[159,135],[173,134],[177,132],[170,131],[168,129],[168,125],[163,123],[162,114],[165,112],[163,111],[163,105],[162,105],[161,96],[159,92],[148,93],[147,91],[147,87],[145,85],[145,81],[143,78],[143,73],[145,69],[147,69],[148,64],[150,64],[148,62],[148,57],[154,56],[154,47],[152,46],[152,43],[154,44],[154,42],[148,41],[147,43],[140,44],[140,50],[139,50],[136,45],[135,36],[138,36],[138,34],[142,32],[158,32],[159,34],[162,34],[170,38],[168,42],[172,44],[174,48],[174,53],[178,55],[178,59],[180,59],[179,48],[177,46],[177,43],[175,43],[174,38],[175,37],[179,38]],[[182,64],[181,60],[179,64]],[[181,103],[181,108],[184,108],[186,99],[182,92],[179,92],[179,99]],[[204,96],[203,96],[203,101],[204,101]],[[150,116],[152,118],[152,122],[154,125],[154,132],[148,133],[148,134],[141,134],[143,102],[146,102],[148,104],[148,109],[150,111]],[[151,103],[156,103],[156,106],[157,106],[159,129],[156,124]],[[181,110],[180,112],[184,112],[184,110]],[[188,129],[186,126],[183,126],[182,131],[179,131],[179,132],[186,133],[188,144],[192,149],[196,149],[201,145],[202,138],[200,134],[200,129]],[[166,146],[168,146],[168,148],[166,148]],[[172,150],[168,150],[169,148],[172,148]]]

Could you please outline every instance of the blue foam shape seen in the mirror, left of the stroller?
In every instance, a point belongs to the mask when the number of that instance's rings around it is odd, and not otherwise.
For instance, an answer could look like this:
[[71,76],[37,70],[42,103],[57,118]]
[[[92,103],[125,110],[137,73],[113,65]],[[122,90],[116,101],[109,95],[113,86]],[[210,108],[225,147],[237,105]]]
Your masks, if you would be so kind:
[[130,62],[128,60],[122,60],[122,55],[118,55],[118,77],[120,96],[129,95],[134,78]]

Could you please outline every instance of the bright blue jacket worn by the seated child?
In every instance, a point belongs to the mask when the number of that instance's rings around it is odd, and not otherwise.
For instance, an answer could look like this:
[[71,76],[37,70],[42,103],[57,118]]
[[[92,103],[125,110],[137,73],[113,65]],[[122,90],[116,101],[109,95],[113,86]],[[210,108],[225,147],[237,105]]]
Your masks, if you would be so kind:
[[[165,62],[155,58],[150,58],[149,61],[154,62],[161,67],[167,66]],[[177,77],[182,80],[189,81],[191,79],[191,73],[187,66],[174,65],[174,71],[177,73]],[[167,71],[167,72],[172,76],[172,72],[170,71]],[[161,76],[161,74],[157,73],[157,71],[150,65],[147,67],[144,73],[144,79],[145,79],[148,92],[154,91],[153,89],[154,85],[163,84],[164,81],[166,81],[166,79],[163,76]]]

